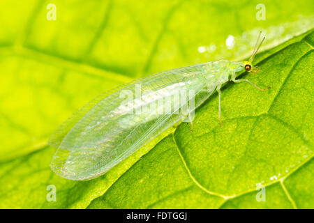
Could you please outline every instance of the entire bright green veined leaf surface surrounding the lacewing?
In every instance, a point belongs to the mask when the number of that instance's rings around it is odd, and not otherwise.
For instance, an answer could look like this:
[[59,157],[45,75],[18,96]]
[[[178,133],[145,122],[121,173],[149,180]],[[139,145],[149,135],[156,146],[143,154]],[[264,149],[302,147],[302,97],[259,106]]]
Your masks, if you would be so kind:
[[[1,208],[314,207],[313,1],[266,1],[264,21],[258,1],[54,1],[56,21],[46,19],[48,3],[0,3]],[[99,93],[167,68],[244,58],[260,29],[262,71],[242,77],[272,89],[227,84],[223,128],[213,95],[194,132],[172,128],[104,176],[75,182],[51,171],[47,140]],[[57,202],[47,202],[48,185]]]

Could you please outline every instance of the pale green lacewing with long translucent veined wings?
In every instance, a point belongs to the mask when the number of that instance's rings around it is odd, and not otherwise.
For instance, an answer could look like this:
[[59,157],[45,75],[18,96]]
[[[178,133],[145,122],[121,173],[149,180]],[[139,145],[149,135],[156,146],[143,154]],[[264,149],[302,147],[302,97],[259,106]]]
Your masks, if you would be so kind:
[[103,175],[184,118],[189,118],[193,130],[192,112],[215,90],[219,97],[218,119],[223,125],[220,117],[222,84],[231,80],[248,82],[260,91],[270,88],[261,89],[248,79],[236,79],[241,72],[258,71],[252,61],[264,38],[260,44],[259,40],[260,35],[248,61],[221,60],[166,70],[98,96],[52,135],[50,145],[57,147],[52,170],[72,180]]

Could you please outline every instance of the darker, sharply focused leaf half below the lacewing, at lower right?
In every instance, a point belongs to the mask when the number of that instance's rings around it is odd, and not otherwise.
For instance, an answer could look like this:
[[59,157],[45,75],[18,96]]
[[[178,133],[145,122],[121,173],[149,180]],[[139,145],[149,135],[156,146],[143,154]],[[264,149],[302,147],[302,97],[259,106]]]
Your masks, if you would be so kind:
[[[259,63],[260,86],[216,95],[121,176],[90,208],[313,208],[312,32]],[[266,201],[257,202],[257,185]],[[135,186],[136,185],[136,186]]]

